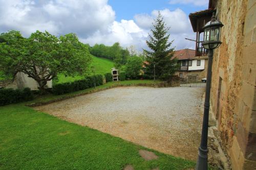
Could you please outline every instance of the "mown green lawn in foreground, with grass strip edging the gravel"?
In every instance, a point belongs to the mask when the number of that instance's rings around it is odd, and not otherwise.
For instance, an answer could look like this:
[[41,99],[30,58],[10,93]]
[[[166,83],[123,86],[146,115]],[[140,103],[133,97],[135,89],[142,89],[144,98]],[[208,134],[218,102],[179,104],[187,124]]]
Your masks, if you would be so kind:
[[[96,88],[140,83],[154,82],[111,82]],[[194,161],[157,151],[153,151],[159,156],[157,160],[145,161],[138,151],[146,148],[140,145],[24,106],[90,90],[95,89],[49,94],[34,101],[0,107],[0,169],[122,169],[126,164],[132,164],[135,169],[195,167]]]

